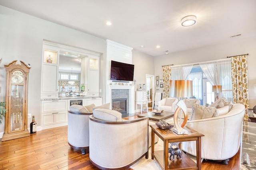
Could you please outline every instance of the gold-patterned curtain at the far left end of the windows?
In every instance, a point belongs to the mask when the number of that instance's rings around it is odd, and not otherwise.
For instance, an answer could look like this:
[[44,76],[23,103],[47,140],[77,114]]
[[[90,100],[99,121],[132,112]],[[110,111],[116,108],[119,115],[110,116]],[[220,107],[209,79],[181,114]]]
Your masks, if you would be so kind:
[[169,86],[170,86],[170,80],[171,80],[171,66],[163,66],[163,98],[169,97]]

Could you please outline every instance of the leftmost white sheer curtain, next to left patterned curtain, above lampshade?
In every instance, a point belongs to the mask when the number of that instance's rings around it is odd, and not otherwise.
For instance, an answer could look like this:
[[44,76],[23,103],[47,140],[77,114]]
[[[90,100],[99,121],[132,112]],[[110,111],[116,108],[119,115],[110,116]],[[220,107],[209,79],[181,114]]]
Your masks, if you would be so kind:
[[186,80],[194,64],[171,66],[172,80]]

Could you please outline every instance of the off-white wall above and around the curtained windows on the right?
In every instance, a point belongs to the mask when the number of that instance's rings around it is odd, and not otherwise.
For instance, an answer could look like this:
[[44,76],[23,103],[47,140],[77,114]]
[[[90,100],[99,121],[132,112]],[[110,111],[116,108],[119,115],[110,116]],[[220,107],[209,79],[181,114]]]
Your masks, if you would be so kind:
[[[256,105],[256,36],[247,38],[234,38],[232,41],[169,55],[155,57],[155,75],[162,78],[162,65],[188,64],[225,59],[227,56],[249,53],[248,59],[248,83],[249,105]],[[160,90],[162,90],[160,88]]]

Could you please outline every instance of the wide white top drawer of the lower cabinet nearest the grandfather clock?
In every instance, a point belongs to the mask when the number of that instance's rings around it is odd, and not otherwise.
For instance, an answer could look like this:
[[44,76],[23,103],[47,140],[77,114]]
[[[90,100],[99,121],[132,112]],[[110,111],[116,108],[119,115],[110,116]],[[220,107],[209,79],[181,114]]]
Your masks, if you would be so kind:
[[47,100],[42,101],[42,113],[66,111],[68,108],[67,100]]

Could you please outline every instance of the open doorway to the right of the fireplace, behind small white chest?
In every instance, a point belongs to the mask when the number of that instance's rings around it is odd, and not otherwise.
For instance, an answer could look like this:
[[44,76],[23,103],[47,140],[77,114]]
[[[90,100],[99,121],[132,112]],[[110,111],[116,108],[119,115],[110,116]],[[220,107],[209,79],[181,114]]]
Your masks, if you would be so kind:
[[146,91],[148,92],[148,108],[151,109],[154,105],[155,97],[155,76],[146,74]]

